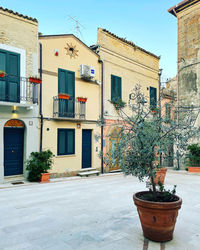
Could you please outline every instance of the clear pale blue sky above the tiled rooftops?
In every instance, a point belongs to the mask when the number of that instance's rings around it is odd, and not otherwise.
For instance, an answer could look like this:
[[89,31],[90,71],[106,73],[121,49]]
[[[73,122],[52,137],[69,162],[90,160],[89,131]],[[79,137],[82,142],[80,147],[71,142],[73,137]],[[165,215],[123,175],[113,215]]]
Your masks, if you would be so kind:
[[105,28],[140,47],[161,55],[163,78],[176,75],[177,24],[167,12],[180,0],[0,0],[0,6],[35,17],[43,34],[74,33],[75,17],[88,46],[97,41],[97,28]]

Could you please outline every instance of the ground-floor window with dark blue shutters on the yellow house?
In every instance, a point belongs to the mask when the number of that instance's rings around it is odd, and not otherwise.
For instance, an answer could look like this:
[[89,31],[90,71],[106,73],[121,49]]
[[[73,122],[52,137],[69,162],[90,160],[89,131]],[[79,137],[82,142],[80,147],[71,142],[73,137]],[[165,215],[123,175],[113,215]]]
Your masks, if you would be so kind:
[[75,154],[75,129],[58,129],[58,155]]

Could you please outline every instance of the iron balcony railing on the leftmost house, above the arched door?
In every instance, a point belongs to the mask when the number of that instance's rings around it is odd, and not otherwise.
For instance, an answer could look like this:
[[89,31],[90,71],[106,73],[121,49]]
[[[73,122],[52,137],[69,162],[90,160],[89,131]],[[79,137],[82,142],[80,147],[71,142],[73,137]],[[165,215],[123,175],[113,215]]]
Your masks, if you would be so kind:
[[38,84],[29,82],[26,77],[0,77],[0,102],[38,103]]

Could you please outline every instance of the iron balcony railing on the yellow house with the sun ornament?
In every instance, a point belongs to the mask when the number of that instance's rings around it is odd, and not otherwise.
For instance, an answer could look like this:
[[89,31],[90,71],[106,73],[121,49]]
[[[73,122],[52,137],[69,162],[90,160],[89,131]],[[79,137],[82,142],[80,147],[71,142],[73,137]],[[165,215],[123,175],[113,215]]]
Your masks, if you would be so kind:
[[79,102],[74,97],[70,97],[69,100],[59,99],[58,96],[53,97],[53,117],[84,120],[85,114],[85,102]]

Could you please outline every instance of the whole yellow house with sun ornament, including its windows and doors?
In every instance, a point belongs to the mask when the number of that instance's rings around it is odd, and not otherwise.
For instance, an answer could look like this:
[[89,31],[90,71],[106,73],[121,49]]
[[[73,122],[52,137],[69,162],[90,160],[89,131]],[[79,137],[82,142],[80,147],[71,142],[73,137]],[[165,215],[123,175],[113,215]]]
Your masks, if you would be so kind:
[[42,150],[54,157],[52,176],[99,169],[101,64],[74,35],[41,35]]

